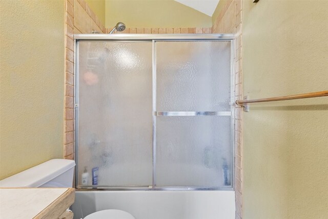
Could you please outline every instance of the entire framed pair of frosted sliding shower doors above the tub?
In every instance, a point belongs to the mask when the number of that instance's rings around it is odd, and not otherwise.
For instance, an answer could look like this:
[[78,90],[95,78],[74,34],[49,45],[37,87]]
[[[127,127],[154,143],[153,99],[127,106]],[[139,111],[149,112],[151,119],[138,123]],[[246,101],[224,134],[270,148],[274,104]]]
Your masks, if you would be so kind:
[[74,37],[76,188],[233,189],[233,35]]

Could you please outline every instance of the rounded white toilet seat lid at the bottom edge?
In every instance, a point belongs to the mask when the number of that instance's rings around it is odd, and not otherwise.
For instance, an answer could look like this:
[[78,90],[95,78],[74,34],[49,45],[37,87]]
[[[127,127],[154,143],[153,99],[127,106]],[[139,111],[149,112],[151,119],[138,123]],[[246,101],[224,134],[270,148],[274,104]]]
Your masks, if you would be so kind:
[[135,219],[135,217],[126,211],[108,209],[89,214],[84,219]]

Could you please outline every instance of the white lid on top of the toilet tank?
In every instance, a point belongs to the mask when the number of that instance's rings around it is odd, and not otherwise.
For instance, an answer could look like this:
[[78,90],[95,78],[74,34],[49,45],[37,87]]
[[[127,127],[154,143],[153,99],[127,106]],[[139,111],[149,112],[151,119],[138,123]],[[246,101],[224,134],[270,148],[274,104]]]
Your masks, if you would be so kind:
[[0,181],[0,187],[39,187],[75,166],[75,161],[53,159]]

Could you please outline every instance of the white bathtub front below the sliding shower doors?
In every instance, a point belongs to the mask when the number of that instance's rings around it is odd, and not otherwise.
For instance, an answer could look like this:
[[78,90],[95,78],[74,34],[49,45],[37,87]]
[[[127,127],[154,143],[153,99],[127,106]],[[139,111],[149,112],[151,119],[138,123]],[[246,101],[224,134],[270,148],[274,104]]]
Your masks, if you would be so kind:
[[136,219],[232,219],[234,191],[76,191],[74,219],[120,209]]

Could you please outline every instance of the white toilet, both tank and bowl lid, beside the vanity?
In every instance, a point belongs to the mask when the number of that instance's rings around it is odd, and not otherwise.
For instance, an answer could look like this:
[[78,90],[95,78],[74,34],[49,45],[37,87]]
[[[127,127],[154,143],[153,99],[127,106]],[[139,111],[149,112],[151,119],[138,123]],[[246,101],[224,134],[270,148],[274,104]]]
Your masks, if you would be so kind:
[[[73,185],[75,161],[53,159],[0,181],[0,188],[68,188]],[[97,211],[85,219],[135,219],[122,210]]]

